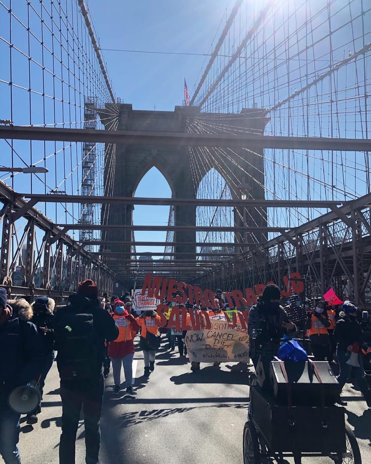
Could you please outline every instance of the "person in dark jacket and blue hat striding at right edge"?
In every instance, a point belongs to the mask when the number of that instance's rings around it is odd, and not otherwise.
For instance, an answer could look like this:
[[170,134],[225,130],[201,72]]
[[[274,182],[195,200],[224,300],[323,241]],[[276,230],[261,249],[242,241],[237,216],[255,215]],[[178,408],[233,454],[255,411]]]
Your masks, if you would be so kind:
[[[357,322],[357,308],[352,302],[344,301],[343,311],[344,313],[340,315],[334,330],[336,355],[340,368],[340,373],[336,378],[341,388],[343,388],[353,369],[367,406],[371,408],[371,392],[365,378],[360,354],[363,337],[361,325]],[[351,360],[352,354],[353,360]],[[346,401],[343,401],[340,396],[338,404],[347,405]]]

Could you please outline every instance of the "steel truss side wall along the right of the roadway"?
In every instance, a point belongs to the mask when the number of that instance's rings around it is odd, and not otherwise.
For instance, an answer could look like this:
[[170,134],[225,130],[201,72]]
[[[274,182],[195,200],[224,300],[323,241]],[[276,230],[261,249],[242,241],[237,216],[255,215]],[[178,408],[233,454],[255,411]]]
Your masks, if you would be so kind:
[[283,289],[282,278],[298,272],[306,296],[322,296],[332,286],[340,298],[354,299],[362,308],[371,309],[370,296],[367,300],[365,294],[371,277],[370,200],[371,193],[353,200],[239,259],[226,260],[194,282],[229,290],[274,280]]

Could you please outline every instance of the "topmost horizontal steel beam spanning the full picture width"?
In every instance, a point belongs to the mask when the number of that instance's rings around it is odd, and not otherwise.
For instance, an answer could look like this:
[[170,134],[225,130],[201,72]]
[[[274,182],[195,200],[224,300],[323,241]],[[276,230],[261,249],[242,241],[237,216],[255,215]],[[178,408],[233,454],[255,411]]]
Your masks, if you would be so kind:
[[180,132],[107,131],[46,127],[0,126],[0,139],[124,143],[151,146],[283,148],[291,150],[371,151],[370,139],[280,137],[258,134],[187,134]]

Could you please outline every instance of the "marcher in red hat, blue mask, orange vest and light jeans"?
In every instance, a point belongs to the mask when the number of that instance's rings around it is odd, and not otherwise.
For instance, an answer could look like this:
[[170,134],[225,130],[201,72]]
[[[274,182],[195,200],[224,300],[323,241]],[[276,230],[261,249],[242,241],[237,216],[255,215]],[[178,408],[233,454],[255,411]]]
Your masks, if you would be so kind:
[[[121,365],[124,367],[126,392],[133,394],[133,359],[134,337],[139,330],[139,324],[130,314],[131,304],[124,304],[117,299],[113,303],[113,319],[119,328],[119,336],[108,345],[108,356],[112,361],[113,379],[115,382],[114,393],[120,391]],[[124,307],[125,306],[125,307]]]

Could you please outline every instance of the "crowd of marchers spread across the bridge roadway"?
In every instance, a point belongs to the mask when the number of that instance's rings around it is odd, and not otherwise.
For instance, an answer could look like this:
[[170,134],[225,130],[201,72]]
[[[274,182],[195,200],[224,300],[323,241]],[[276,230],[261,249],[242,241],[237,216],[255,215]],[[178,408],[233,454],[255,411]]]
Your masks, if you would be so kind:
[[[56,308],[54,300],[38,297],[32,304],[25,299],[8,299],[0,287],[0,455],[5,464],[21,463],[18,449],[20,413],[12,408],[9,397],[18,387],[35,386],[39,401],[28,411],[27,422],[35,423],[41,412],[46,376],[56,358],[60,376],[62,401],[62,433],[59,443],[59,463],[75,463],[75,441],[80,410],[85,422],[86,463],[99,463],[100,430],[104,379],[112,365],[113,394],[133,388],[133,359],[135,338],[140,333],[137,349],[142,350],[144,375],[155,369],[156,352],[162,339],[168,339],[169,355],[179,351],[186,364],[185,331],[175,327],[159,327],[160,316],[155,311],[136,311],[129,292],[121,297],[99,296],[93,280],[80,282],[77,292],[70,295],[67,304]],[[215,292],[214,305],[200,308],[194,302],[182,303],[188,317],[191,312],[208,311],[210,317],[223,317],[225,311],[234,311],[225,301],[222,290]],[[174,303],[169,303],[169,315]],[[239,308],[240,309],[240,308]],[[245,308],[246,309],[246,308]],[[371,407],[371,393],[365,370],[371,362],[370,318],[360,317],[356,306],[346,301],[338,307],[329,307],[323,300],[305,300],[292,296],[281,300],[277,285],[265,287],[257,303],[249,309],[248,334],[250,358],[256,367],[256,346],[264,346],[273,339],[303,336],[309,339],[307,347],[318,361],[337,364],[338,382],[343,387],[354,372],[359,387]],[[366,320],[367,319],[367,320]],[[57,355],[55,356],[55,354]],[[357,367],[347,361],[357,356]],[[220,362],[213,363],[216,369]],[[232,368],[246,371],[247,363]],[[125,382],[121,383],[121,367]],[[191,371],[199,371],[200,363],[192,362]],[[234,369],[233,369],[234,370]],[[339,397],[339,403],[345,403]]]

